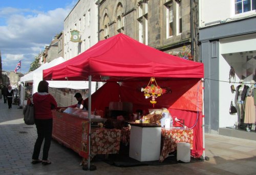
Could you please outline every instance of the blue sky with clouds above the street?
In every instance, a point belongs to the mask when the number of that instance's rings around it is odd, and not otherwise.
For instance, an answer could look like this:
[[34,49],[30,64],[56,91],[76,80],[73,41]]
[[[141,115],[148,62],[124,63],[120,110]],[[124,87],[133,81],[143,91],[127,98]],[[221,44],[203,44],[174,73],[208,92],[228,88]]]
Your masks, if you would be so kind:
[[63,30],[63,21],[77,2],[78,0],[1,1],[2,69],[14,71],[19,59],[22,59],[21,72],[27,73],[35,56]]

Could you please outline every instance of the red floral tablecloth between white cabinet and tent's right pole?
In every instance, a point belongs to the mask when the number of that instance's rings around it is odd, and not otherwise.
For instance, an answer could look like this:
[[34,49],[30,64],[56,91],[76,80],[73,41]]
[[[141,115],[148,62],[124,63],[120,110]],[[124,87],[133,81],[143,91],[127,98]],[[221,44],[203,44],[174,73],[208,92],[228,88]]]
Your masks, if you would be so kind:
[[160,162],[168,157],[169,152],[177,149],[178,142],[190,143],[190,149],[193,149],[193,129],[164,129],[162,128],[162,149]]

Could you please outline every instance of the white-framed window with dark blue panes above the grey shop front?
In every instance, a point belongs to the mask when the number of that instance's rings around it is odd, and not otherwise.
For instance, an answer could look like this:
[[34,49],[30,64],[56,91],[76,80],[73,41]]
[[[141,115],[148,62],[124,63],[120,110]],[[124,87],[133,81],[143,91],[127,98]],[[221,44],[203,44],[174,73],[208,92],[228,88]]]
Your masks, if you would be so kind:
[[234,0],[234,13],[240,14],[256,9],[256,0]]

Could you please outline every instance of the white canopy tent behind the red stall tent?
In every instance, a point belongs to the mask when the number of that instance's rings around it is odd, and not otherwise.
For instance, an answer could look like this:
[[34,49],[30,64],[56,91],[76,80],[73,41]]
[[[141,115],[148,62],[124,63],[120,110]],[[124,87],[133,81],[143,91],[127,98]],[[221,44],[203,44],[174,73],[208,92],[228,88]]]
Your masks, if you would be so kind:
[[[51,68],[57,64],[60,64],[64,62],[65,59],[62,57],[58,57],[51,62],[47,62],[43,65],[41,65],[39,68],[34,70],[33,72],[30,72],[29,74],[23,76],[20,78],[20,105],[26,105],[25,101],[25,83],[26,82],[33,82],[33,89],[32,94],[37,92],[37,86],[39,82],[42,80],[42,70]],[[89,89],[89,83],[88,81],[48,81],[49,86],[51,88],[69,88],[69,89],[75,89],[75,90],[82,90],[82,89]],[[96,89],[96,82],[92,82],[93,85],[93,92],[95,92]]]

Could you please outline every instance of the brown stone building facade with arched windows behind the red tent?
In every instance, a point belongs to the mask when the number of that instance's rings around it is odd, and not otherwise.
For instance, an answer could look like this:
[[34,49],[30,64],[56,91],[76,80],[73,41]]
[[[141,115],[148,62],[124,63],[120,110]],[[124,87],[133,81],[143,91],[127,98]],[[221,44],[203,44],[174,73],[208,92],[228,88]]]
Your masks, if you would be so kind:
[[168,54],[198,60],[197,1],[191,5],[189,0],[99,2],[100,40],[121,32]]

